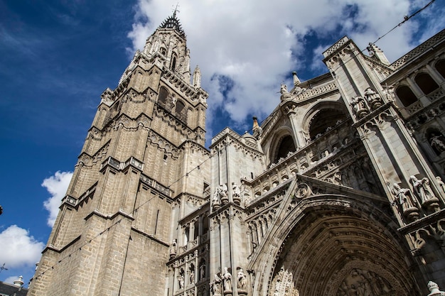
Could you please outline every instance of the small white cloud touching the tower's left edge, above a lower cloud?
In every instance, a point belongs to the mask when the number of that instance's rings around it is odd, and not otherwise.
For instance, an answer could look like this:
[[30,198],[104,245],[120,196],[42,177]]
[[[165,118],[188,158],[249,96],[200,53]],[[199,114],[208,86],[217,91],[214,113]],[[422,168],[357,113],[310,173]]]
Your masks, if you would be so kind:
[[53,176],[43,180],[42,186],[51,194],[51,197],[43,202],[45,209],[50,212],[47,221],[50,227],[54,225],[55,219],[57,218],[60,201],[65,196],[68,185],[70,185],[71,177],[73,177],[73,172],[55,172]]

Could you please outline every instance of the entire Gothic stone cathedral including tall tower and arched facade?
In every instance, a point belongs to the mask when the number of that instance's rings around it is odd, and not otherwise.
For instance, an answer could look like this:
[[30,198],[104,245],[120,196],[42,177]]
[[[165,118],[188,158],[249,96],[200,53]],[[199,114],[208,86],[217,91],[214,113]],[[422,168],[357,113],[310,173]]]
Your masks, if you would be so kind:
[[443,293],[445,30],[392,63],[345,36],[208,148],[190,55],[174,12],[103,92],[28,295]]

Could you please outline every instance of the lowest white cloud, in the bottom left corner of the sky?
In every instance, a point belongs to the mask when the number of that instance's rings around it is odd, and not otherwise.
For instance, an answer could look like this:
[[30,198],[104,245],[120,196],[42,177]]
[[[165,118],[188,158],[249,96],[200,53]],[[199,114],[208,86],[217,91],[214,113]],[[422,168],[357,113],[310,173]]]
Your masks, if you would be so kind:
[[26,229],[11,225],[0,233],[0,263],[5,263],[5,268],[31,268],[40,260],[44,247]]

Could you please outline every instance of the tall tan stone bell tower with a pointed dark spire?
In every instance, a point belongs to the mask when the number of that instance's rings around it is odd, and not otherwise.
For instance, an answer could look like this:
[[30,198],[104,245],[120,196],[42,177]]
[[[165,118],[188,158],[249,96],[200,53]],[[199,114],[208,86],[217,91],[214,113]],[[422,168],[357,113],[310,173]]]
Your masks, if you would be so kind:
[[102,93],[28,295],[165,294],[178,221],[210,183],[195,73],[174,11]]

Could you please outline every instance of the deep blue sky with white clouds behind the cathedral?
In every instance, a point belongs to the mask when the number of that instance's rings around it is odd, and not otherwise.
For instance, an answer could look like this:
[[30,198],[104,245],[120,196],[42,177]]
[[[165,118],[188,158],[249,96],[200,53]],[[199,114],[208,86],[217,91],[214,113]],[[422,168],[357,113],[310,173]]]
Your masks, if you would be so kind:
[[[376,44],[390,62],[445,28],[445,1]],[[327,72],[348,35],[364,49],[429,0],[181,0],[178,18],[208,99],[207,138],[243,133],[279,103],[291,72]],[[0,0],[0,280],[28,280],[57,215],[100,94],[171,15],[171,0]]]

